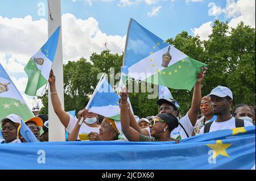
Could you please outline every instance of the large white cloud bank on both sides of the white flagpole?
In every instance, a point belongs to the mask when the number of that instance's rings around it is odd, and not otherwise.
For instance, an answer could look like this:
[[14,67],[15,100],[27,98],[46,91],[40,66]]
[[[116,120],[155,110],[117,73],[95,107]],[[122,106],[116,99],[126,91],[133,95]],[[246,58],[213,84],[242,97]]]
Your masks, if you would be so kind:
[[[23,69],[29,58],[47,41],[47,21],[32,20],[31,16],[11,19],[0,16],[0,27],[0,62],[7,73],[14,75],[14,83],[24,95],[27,77]],[[105,49],[105,42],[112,53],[121,54],[126,39],[126,36],[106,35],[94,18],[82,20],[72,14],[62,16],[62,35],[64,62],[78,60],[81,56],[89,58],[92,52],[100,53]],[[24,73],[21,78],[20,73]],[[23,97],[32,107],[31,97]]]

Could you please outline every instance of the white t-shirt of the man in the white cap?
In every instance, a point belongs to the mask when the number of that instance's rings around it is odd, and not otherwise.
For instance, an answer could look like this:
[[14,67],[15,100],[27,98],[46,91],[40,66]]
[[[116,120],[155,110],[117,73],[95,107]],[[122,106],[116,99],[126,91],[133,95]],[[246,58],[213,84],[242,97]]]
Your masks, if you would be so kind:
[[[253,124],[250,123],[249,121],[243,121],[243,122],[245,123],[245,127],[253,126]],[[236,128],[236,119],[234,117],[232,117],[228,121],[224,121],[221,123],[218,123],[216,122],[216,120],[214,120],[212,122],[212,125],[210,125],[209,132],[223,130],[223,129],[232,129],[232,128]],[[204,127],[200,129],[200,134],[204,134]]]

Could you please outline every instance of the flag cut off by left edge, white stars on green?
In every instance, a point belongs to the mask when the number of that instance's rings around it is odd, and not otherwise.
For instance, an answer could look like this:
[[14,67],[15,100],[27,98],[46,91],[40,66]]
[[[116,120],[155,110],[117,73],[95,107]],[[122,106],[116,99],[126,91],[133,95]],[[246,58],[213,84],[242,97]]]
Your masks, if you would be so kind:
[[19,115],[23,120],[34,117],[22,95],[0,64],[0,120],[11,113]]

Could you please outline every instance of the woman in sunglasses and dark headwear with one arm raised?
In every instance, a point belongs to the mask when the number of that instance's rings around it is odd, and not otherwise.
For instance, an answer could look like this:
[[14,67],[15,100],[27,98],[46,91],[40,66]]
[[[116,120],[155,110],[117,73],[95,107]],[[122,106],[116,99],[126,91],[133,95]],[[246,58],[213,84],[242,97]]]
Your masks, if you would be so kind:
[[127,102],[127,98],[129,93],[127,91],[120,93],[121,100],[120,108],[121,108],[121,127],[122,132],[125,134],[125,137],[129,141],[175,141],[170,137],[171,131],[179,125],[179,121],[174,115],[169,113],[159,113],[151,120],[150,126],[150,135],[144,136],[137,129],[131,127],[130,122],[133,117],[129,113],[129,103]]

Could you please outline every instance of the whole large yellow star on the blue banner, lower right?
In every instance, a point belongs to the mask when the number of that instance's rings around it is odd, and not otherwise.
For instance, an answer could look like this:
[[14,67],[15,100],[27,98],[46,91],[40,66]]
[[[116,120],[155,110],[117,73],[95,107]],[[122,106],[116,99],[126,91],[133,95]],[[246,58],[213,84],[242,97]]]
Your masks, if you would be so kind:
[[207,144],[209,148],[211,148],[213,153],[213,159],[218,157],[218,155],[223,155],[225,157],[229,157],[228,153],[226,153],[226,149],[229,148],[232,144],[223,144],[221,140],[217,140],[216,144]]

